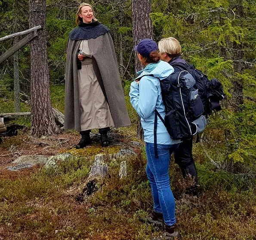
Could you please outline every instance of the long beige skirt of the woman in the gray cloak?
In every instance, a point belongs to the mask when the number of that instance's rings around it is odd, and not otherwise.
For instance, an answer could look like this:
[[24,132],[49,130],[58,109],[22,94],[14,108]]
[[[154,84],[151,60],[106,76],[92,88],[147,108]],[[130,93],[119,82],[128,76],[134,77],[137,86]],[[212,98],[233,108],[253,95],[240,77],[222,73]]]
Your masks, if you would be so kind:
[[78,70],[81,131],[114,126],[108,102],[102,92],[92,59],[86,57]]

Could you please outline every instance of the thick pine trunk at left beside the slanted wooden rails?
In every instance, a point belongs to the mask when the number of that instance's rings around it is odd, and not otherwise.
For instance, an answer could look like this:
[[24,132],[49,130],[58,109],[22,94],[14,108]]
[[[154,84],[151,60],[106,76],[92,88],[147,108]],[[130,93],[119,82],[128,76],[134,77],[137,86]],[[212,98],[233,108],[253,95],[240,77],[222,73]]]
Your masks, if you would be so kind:
[[30,27],[42,26],[31,41],[31,135],[58,132],[52,114],[46,53],[46,0],[29,0]]

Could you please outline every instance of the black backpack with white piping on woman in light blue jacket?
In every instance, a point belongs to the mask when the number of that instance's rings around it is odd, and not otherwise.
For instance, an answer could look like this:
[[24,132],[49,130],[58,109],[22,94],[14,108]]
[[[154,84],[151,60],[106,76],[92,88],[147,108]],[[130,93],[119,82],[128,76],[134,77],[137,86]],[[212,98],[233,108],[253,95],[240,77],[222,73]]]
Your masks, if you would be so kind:
[[160,81],[165,119],[163,121],[171,138],[184,139],[204,130],[206,125],[204,104],[196,88],[196,81],[188,71],[171,74]]

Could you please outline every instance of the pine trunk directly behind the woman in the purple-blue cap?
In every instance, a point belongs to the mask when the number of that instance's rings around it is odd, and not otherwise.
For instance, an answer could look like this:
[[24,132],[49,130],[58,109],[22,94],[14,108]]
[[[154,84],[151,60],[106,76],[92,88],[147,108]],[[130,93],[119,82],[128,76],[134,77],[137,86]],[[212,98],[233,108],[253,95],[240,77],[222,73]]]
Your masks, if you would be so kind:
[[[133,0],[133,45],[137,45],[142,39],[153,39],[153,27],[149,14],[151,13],[151,0]],[[136,53],[135,53],[136,54]],[[135,56],[135,73],[143,68],[137,56]],[[138,119],[137,137],[143,139],[144,132]]]

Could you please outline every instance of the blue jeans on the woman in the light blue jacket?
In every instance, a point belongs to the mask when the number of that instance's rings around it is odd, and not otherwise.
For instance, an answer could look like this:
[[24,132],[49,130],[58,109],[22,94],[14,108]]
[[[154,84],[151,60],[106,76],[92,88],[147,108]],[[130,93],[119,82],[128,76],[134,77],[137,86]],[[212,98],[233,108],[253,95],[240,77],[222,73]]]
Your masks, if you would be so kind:
[[154,211],[163,213],[166,225],[176,223],[175,200],[170,187],[169,163],[170,156],[179,144],[157,144],[158,158],[154,155],[154,144],[146,142],[147,166],[146,173],[151,186]]

